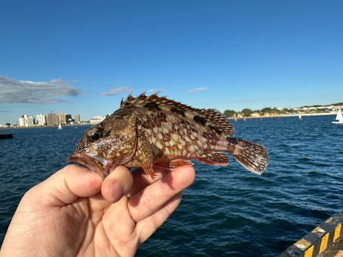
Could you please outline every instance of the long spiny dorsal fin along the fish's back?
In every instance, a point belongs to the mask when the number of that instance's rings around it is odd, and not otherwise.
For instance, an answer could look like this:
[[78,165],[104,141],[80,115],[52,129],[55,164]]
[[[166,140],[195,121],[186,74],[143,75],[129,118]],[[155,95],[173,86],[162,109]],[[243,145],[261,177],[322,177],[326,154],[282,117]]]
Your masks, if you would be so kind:
[[235,134],[235,128],[228,118],[219,110],[193,108],[178,101],[167,99],[167,97],[158,97],[158,93],[150,95],[149,97],[145,94],[146,92],[134,98],[132,97],[132,93],[130,93],[125,101],[123,101],[123,99],[121,100],[120,108],[146,107],[160,108],[162,110],[167,109],[174,113],[192,117],[194,121],[201,123],[202,125],[208,125],[219,134],[224,134],[229,137]]

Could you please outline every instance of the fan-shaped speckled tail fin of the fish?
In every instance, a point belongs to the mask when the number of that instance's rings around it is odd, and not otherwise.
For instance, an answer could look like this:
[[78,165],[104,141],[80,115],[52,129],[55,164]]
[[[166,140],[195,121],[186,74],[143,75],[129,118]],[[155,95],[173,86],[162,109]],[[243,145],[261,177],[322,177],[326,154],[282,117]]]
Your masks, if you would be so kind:
[[263,145],[241,138],[228,138],[228,152],[248,171],[261,175],[268,165],[268,152]]

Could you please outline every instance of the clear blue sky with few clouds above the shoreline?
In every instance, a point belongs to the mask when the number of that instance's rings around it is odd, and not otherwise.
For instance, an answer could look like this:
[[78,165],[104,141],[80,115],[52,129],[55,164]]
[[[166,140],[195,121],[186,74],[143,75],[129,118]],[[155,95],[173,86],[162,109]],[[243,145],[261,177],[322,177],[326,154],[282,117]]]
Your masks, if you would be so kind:
[[240,111],[343,101],[343,3],[1,1],[0,123],[150,90]]

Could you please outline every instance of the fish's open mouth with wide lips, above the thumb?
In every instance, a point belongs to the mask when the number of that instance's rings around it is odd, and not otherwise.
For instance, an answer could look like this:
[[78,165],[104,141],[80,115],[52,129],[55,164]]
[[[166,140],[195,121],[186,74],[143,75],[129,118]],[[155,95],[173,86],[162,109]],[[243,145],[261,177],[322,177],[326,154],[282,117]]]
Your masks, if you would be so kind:
[[71,156],[67,158],[69,162],[77,162],[84,167],[99,174],[103,179],[110,173],[109,169],[112,166],[112,161],[108,161],[100,156],[93,154],[86,154],[74,151]]

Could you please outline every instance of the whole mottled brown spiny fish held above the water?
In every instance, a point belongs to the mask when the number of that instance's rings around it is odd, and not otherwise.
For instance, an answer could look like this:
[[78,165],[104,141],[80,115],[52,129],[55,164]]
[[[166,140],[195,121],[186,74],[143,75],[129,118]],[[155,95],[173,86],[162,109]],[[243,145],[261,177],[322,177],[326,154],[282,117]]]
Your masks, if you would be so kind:
[[212,166],[229,164],[227,152],[248,171],[261,175],[269,156],[263,145],[233,138],[235,128],[216,109],[197,109],[145,93],[125,101],[104,121],[84,132],[67,158],[106,178],[118,165],[143,168],[156,178],[154,167],[180,169],[196,160]]

